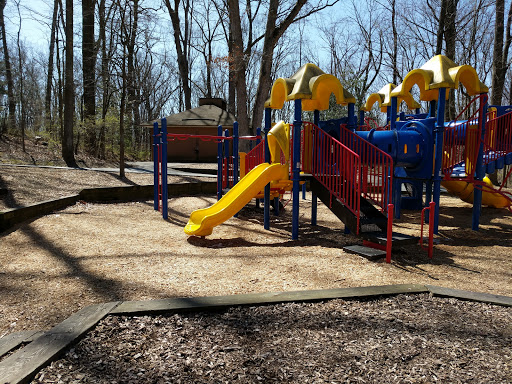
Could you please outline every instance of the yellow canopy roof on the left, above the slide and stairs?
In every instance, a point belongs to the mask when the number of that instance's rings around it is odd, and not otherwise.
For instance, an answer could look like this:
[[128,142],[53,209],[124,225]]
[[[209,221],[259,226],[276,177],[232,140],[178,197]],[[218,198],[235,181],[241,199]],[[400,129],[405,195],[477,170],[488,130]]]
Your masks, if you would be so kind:
[[323,111],[329,109],[331,94],[334,94],[338,104],[356,102],[355,97],[343,88],[335,76],[308,63],[300,67],[292,77],[274,81],[265,107],[281,109],[285,101],[302,99],[304,111]]

